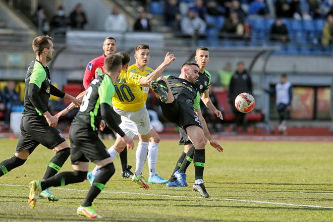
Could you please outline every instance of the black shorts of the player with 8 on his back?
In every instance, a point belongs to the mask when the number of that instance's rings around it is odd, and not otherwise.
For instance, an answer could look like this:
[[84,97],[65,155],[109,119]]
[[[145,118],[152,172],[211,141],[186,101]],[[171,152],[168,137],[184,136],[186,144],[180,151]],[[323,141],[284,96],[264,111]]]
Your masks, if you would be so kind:
[[88,126],[74,124],[69,130],[72,164],[100,161],[110,157],[97,132]]

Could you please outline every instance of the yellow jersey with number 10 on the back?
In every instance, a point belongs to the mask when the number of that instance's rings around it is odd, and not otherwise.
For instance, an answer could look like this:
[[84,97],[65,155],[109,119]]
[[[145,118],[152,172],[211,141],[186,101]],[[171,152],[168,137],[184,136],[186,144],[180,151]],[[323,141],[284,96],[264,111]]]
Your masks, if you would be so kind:
[[136,111],[142,108],[146,102],[140,85],[141,76],[128,71],[123,71],[118,77],[115,86],[115,95],[112,105],[117,108]]

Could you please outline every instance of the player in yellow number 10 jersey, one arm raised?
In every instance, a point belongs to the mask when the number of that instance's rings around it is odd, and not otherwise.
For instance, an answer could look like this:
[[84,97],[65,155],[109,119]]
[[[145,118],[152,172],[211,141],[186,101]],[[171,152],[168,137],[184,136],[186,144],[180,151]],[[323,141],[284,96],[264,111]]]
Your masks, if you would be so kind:
[[[116,113],[122,117],[122,123],[120,124],[121,129],[131,138],[135,135],[139,136],[140,142],[136,150],[136,170],[135,175],[132,177],[132,181],[139,184],[141,187],[148,189],[149,186],[142,176],[142,171],[147,157],[150,132],[153,128],[150,125],[145,98],[141,87],[149,86],[150,82],[159,77],[165,67],[169,66],[175,60],[175,57],[168,52],[167,55],[165,55],[164,62],[155,71],[147,76],[142,76],[128,70],[130,55],[127,52],[119,52],[117,54],[123,59],[123,71],[118,78],[118,81],[115,83],[116,95],[114,96],[112,103]],[[123,143],[120,138],[117,138],[116,143],[108,149],[108,152],[112,158],[115,158],[125,146],[126,144]],[[151,165],[149,165],[149,168],[151,170]],[[153,170],[155,170],[155,168]],[[96,175],[98,175],[96,168],[88,173],[88,177],[91,178],[89,180],[90,183],[92,183],[93,178]],[[168,181],[162,179],[157,173],[155,173],[154,175],[149,176],[148,182],[165,184]]]

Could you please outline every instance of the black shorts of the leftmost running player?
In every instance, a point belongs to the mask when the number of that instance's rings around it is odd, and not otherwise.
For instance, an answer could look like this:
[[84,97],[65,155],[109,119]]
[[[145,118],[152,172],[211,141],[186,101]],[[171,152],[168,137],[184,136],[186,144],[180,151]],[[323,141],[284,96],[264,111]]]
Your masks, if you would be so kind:
[[39,145],[53,149],[65,142],[63,135],[54,127],[50,127],[43,116],[25,116],[21,119],[21,135],[16,152],[29,149],[29,153]]

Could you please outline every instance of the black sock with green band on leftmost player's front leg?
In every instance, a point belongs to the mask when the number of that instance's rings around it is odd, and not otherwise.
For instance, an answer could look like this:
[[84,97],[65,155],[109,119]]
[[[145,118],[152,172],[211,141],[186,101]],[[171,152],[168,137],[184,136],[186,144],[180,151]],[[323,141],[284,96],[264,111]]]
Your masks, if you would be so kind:
[[63,167],[65,161],[68,159],[70,154],[71,149],[69,147],[55,153],[55,155],[47,165],[43,179],[47,179],[57,174],[60,171],[61,167]]

